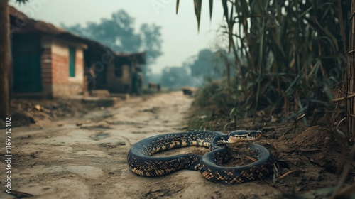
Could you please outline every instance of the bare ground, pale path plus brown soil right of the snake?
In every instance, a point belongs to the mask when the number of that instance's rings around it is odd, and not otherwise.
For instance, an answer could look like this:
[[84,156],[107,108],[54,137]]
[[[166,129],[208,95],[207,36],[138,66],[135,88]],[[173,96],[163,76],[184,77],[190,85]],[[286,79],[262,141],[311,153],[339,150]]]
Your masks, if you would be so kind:
[[[300,125],[293,133],[291,124],[260,127],[263,139],[256,141],[271,151],[280,176],[292,171],[284,178],[219,185],[197,171],[157,178],[132,173],[126,163],[131,145],[149,136],[185,131],[191,103],[192,98],[181,92],[136,97],[116,107],[12,128],[11,190],[31,194],[31,198],[285,198],[293,193],[323,198],[327,191],[319,196],[312,190],[337,185],[343,154],[337,136],[322,126],[307,129]],[[0,147],[4,157],[4,141]],[[234,146],[232,162],[245,159],[238,152],[240,147]],[[205,151],[192,146],[165,155]],[[4,161],[0,166],[5,171]],[[1,190],[4,179],[1,172]],[[354,182],[353,169],[346,183]],[[15,197],[0,193],[0,198]]]

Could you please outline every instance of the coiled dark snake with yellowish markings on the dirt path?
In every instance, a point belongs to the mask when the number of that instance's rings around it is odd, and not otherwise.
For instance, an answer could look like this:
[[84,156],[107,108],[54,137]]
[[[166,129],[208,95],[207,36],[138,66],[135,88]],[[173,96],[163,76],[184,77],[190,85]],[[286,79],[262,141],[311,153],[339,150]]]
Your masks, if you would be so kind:
[[[214,183],[238,184],[266,177],[273,171],[271,154],[258,144],[250,144],[253,163],[244,166],[222,166],[231,158],[228,144],[241,141],[255,141],[261,131],[185,131],[151,136],[136,142],[127,154],[127,163],[133,173],[139,176],[164,176],[181,169],[200,171],[202,176]],[[178,154],[175,156],[152,156],[160,151],[185,146],[204,146],[207,154]]]

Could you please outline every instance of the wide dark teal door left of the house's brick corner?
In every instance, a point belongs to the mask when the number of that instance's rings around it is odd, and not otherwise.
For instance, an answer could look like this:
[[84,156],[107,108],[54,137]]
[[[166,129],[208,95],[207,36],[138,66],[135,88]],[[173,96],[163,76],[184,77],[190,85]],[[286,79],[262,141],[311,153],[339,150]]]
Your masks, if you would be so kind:
[[40,92],[40,36],[13,36],[13,92]]

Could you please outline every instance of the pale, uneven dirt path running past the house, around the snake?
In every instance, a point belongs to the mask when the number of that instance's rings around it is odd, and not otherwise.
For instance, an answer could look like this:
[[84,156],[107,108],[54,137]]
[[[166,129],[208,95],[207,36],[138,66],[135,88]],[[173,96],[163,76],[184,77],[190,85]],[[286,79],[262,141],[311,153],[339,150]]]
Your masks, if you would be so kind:
[[[34,198],[275,198],[278,190],[262,181],[219,185],[197,171],[143,178],[129,170],[126,155],[131,144],[182,131],[191,102],[173,92],[131,99],[82,118],[49,122],[42,129],[13,128],[11,190]],[[196,148],[170,154],[192,150]],[[4,161],[1,168],[5,171]],[[2,189],[4,175],[1,172]],[[13,196],[1,193],[0,198]]]

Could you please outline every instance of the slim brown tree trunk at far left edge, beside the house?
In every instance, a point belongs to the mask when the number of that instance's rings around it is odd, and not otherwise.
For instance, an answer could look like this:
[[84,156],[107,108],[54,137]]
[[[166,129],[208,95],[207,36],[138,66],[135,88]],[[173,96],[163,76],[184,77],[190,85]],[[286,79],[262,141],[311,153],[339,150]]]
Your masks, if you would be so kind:
[[[16,0],[25,3],[28,0]],[[11,116],[10,112],[10,16],[9,1],[0,1],[0,119]]]

